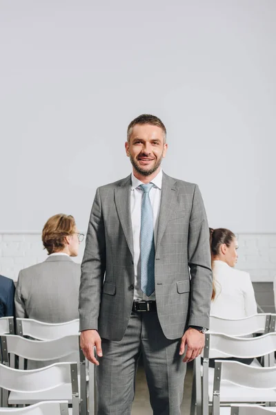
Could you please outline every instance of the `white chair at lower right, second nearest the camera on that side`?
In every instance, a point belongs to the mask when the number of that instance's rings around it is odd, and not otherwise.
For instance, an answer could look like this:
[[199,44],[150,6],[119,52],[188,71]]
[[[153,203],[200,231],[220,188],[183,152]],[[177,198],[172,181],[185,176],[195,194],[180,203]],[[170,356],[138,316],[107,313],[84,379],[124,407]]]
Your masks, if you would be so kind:
[[251,367],[239,362],[216,360],[213,415],[230,414],[221,403],[276,402],[276,367]]

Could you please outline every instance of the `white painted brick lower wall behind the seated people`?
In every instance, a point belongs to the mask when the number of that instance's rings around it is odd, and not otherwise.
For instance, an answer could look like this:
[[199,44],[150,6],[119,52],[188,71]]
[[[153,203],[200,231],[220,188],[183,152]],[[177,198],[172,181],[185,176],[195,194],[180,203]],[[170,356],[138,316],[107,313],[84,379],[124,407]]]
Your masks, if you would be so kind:
[[[238,234],[237,268],[250,273],[254,282],[273,281],[276,277],[276,234]],[[83,241],[79,256],[81,262]],[[0,274],[17,281],[19,270],[46,259],[40,232],[0,233]]]

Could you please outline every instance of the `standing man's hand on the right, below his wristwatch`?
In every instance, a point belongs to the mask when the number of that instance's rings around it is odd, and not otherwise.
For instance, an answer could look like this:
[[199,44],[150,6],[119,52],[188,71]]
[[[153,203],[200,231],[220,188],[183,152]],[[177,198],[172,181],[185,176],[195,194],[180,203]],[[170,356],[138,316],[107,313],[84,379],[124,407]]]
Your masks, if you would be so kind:
[[201,333],[197,329],[193,329],[190,327],[187,331],[185,331],[184,335],[181,338],[180,350],[179,355],[183,355],[186,349],[186,354],[183,359],[184,363],[191,362],[197,356],[199,356],[204,349],[205,345],[205,335]]

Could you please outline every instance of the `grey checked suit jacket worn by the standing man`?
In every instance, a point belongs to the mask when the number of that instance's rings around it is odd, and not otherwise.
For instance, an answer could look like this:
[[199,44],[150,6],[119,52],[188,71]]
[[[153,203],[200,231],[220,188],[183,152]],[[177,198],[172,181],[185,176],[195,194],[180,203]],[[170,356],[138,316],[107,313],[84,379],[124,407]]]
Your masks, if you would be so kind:
[[[97,189],[81,264],[80,330],[97,329],[108,340],[124,337],[133,302],[130,189],[131,176]],[[166,338],[181,338],[187,325],[208,328],[211,293],[209,231],[199,188],[163,174],[155,295]]]

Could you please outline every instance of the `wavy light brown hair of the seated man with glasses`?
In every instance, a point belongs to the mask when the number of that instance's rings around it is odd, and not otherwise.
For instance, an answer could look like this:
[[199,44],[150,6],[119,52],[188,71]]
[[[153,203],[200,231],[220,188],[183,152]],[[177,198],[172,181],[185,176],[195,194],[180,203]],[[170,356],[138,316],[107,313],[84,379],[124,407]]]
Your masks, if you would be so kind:
[[48,255],[65,248],[64,238],[75,232],[76,223],[70,214],[55,214],[45,223],[42,231],[42,242]]

